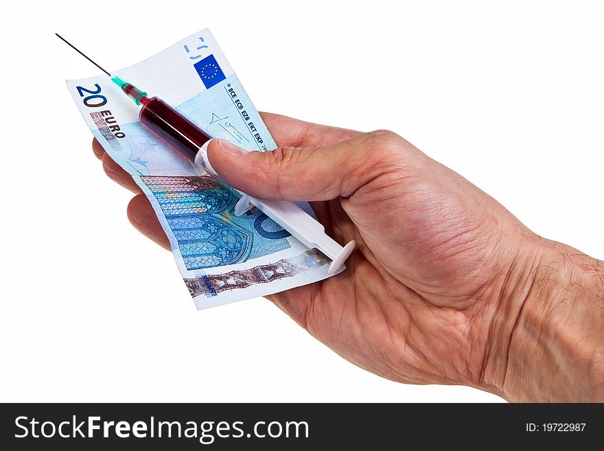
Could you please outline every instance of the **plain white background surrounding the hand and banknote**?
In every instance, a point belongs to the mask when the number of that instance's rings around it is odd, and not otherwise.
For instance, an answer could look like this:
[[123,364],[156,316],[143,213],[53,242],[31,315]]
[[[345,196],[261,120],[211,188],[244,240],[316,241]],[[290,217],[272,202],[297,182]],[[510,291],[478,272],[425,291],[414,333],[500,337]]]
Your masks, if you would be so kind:
[[395,130],[537,233],[603,257],[598,3],[414,3],[6,7],[0,400],[499,401],[378,378],[265,299],[198,312],[93,157],[65,79],[97,69],[53,34],[111,70],[209,27],[259,110]]

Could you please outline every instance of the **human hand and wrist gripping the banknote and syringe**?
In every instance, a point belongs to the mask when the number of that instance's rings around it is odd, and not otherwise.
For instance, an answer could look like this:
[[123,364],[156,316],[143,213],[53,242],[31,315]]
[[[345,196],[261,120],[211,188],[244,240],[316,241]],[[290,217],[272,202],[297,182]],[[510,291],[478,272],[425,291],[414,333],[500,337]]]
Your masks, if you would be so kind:
[[[538,237],[393,132],[263,119],[277,150],[248,154],[214,140],[213,168],[257,198],[312,201],[329,235],[357,242],[340,275],[270,297],[308,332],[399,382],[465,384],[509,400],[603,396],[602,340],[583,339],[579,325],[585,316],[596,332],[604,323],[602,262]],[[128,217],[169,248],[145,196]]]

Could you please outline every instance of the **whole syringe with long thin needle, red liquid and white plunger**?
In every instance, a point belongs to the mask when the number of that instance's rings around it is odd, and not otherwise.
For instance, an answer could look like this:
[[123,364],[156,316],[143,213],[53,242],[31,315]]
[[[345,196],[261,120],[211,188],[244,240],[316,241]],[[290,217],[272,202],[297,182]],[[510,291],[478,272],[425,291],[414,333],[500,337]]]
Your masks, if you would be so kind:
[[[111,80],[119,86],[121,91],[124,91],[130,99],[141,106],[139,120],[143,126],[146,126],[155,135],[172,146],[172,148],[193,161],[198,170],[204,169],[206,172],[217,175],[207,158],[207,144],[212,139],[207,132],[189,121],[181,113],[178,113],[176,109],[172,108],[172,106],[159,97],[149,97],[146,92],[141,91],[133,84],[124,82],[124,80],[121,80],[117,76],[112,76],[111,73],[97,65],[96,62],[84,55],[80,50],[73,47],[65,38],[62,38],[58,34],[57,36],[110,76]],[[325,228],[320,222],[316,221],[292,202],[286,200],[261,200],[248,196],[237,189],[235,191],[242,196],[237,205],[235,205],[235,215],[240,216],[252,206],[257,207],[266,216],[283,227],[283,229],[290,232],[302,244],[309,248],[318,248],[319,251],[332,259],[332,264],[329,265],[329,275],[334,275],[341,268],[356,245],[356,242],[351,241],[344,247],[340,246],[338,242],[325,233]]]

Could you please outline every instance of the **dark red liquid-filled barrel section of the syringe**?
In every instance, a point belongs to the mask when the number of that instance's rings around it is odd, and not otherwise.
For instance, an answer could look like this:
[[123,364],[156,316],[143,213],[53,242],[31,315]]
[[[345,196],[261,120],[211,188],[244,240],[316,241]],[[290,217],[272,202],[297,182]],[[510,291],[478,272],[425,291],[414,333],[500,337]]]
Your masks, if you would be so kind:
[[191,161],[195,160],[199,148],[211,139],[206,132],[159,97],[151,97],[144,102],[139,120]]

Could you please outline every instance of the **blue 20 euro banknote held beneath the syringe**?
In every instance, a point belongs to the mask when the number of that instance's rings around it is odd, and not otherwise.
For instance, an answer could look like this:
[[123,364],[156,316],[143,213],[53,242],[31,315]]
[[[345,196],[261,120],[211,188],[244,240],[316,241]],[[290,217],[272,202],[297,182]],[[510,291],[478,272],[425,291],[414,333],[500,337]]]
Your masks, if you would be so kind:
[[[211,137],[247,150],[277,147],[209,30],[113,73],[161,97]],[[68,80],[67,87],[104,150],[149,198],[197,308],[328,277],[329,259],[264,213],[235,216],[238,195],[144,128],[139,109],[108,76]]]

